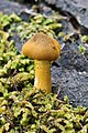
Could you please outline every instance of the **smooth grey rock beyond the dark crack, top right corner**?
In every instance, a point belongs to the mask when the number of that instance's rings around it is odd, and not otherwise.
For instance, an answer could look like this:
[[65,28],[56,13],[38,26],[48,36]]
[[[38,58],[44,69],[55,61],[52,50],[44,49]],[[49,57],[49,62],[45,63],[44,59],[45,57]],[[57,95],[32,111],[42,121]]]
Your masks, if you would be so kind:
[[[45,0],[56,10],[70,17],[74,27],[78,24],[81,32],[88,34],[88,0]],[[75,22],[74,22],[75,21]]]

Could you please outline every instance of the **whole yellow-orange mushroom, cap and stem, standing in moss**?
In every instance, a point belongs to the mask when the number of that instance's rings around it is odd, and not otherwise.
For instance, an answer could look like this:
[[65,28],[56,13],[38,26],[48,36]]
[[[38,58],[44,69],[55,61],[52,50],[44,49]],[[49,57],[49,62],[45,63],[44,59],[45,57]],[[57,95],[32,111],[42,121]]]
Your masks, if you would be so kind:
[[22,53],[35,60],[34,86],[36,89],[51,92],[51,61],[55,61],[59,52],[59,43],[43,32],[33,35],[22,47]]

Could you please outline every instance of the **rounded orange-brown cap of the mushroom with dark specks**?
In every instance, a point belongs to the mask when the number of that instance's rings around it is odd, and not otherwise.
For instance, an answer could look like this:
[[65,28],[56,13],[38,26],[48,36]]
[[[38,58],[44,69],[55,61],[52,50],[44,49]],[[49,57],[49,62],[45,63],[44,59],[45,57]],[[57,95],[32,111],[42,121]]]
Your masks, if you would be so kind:
[[35,60],[54,61],[58,58],[59,52],[59,43],[42,32],[33,35],[22,47],[22,53]]

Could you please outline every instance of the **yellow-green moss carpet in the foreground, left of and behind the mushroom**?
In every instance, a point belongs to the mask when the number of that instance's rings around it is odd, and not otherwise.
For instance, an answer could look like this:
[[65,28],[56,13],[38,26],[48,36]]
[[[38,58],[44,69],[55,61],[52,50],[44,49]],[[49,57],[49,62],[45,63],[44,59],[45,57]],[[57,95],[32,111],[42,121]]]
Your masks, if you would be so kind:
[[56,21],[38,16],[26,23],[15,14],[2,13],[0,21],[0,133],[87,133],[86,108],[75,109],[67,96],[63,102],[55,94],[34,89],[33,60],[20,54],[14,41],[9,41],[13,30],[22,40],[41,30],[56,35],[55,27],[48,27]]

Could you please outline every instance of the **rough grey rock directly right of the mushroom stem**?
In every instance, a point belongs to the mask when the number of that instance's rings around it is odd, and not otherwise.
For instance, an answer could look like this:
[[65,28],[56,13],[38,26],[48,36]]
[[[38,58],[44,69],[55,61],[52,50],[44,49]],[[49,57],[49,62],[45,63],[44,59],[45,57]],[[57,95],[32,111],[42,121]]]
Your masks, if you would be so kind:
[[78,50],[78,42],[66,43],[61,59],[52,66],[53,91],[58,98],[68,95],[74,106],[88,106],[88,59]]

